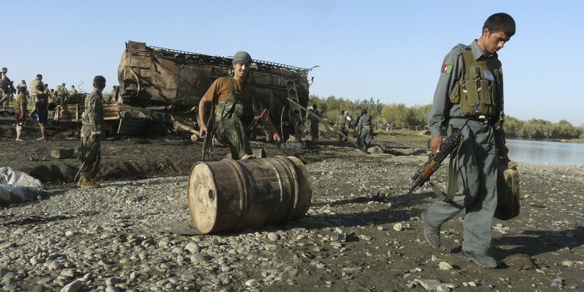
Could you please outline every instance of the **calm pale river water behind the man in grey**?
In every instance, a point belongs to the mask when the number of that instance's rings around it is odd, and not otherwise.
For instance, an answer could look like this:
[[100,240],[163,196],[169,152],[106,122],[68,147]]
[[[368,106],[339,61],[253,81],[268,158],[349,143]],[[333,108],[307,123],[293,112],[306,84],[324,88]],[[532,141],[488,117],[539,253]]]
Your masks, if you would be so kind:
[[584,144],[507,139],[509,158],[549,165],[584,165]]

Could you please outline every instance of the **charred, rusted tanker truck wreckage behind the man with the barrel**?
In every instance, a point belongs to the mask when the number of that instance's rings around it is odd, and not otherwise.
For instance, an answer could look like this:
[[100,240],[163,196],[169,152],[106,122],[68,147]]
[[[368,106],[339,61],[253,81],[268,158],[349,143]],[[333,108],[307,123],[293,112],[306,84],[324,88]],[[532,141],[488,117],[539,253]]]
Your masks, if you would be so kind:
[[[228,76],[232,58],[188,53],[128,41],[122,54],[115,102],[104,102],[105,131],[109,135],[190,134],[199,139],[197,111],[201,97],[215,79]],[[313,67],[314,68],[314,67]],[[248,82],[268,109],[283,139],[304,133],[308,104],[308,72],[284,64],[253,60]],[[83,101],[55,109],[60,125],[78,127]]]

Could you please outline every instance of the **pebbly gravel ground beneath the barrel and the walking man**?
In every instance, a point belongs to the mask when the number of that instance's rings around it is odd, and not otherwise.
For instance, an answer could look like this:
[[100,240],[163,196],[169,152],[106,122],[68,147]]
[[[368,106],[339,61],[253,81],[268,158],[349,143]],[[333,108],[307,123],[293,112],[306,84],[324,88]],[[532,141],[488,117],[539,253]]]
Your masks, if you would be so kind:
[[184,174],[50,185],[41,200],[0,208],[0,288],[584,291],[584,167],[519,163],[521,214],[494,221],[501,264],[485,269],[460,258],[463,212],[443,225],[440,249],[424,241],[419,214],[433,195],[407,195],[423,145],[380,144],[385,153],[296,151],[312,181],[306,217],[219,235],[194,234]]

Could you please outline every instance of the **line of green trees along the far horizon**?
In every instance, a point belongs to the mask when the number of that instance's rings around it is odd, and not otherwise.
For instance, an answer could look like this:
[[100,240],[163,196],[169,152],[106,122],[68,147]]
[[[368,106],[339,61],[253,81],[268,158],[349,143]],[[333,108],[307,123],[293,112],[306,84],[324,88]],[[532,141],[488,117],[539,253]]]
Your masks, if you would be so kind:
[[[350,100],[334,95],[322,98],[311,95],[308,106],[316,104],[319,111],[325,111],[322,116],[335,123],[341,110],[348,111],[353,118],[357,118],[362,109],[367,109],[376,125],[395,123],[399,128],[403,123],[410,127],[426,127],[428,113],[432,104],[406,106],[405,104],[383,104],[379,99]],[[576,127],[567,120],[552,123],[548,120],[532,118],[519,120],[510,116],[505,120],[505,132],[508,137],[529,139],[584,139],[584,125]]]

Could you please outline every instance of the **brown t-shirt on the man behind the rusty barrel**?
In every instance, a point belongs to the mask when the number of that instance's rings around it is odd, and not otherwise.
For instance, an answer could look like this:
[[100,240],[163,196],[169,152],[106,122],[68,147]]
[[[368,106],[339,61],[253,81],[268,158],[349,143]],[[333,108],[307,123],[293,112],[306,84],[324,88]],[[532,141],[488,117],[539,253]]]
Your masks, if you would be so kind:
[[[243,103],[243,116],[253,116],[253,107],[252,102],[255,102],[258,111],[262,110],[262,104],[259,103],[259,99],[254,98],[255,95],[255,87],[250,83],[243,83],[239,84],[235,81],[236,84],[241,88],[241,102]],[[207,90],[205,95],[203,96],[206,99],[213,100],[213,98],[217,98],[218,103],[222,100],[227,99],[229,95],[233,91],[232,82],[229,81],[229,77],[220,77],[211,84],[211,87]],[[216,111],[217,109],[215,109]]]

